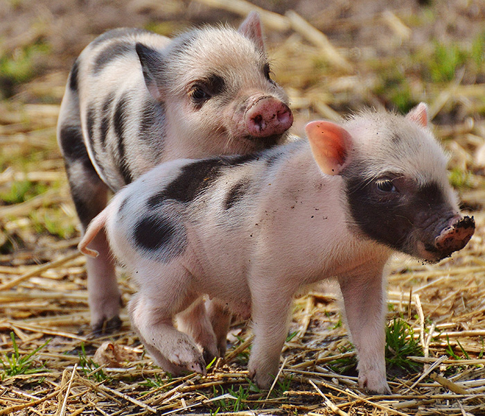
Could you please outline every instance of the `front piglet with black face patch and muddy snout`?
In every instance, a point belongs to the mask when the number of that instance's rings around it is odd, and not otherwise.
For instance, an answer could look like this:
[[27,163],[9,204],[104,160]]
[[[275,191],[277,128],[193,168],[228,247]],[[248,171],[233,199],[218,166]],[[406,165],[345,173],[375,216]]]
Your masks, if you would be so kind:
[[267,388],[292,297],[336,277],[360,386],[389,392],[387,259],[399,251],[439,261],[464,248],[475,223],[459,214],[424,104],[407,116],[367,111],[342,126],[315,121],[306,132],[309,142],[254,155],[161,164],[89,225],[80,250],[91,253],[87,245],[105,227],[139,286],[129,304],[133,327],[165,370],[204,372],[201,353],[172,320],[208,294],[251,315],[249,373]]

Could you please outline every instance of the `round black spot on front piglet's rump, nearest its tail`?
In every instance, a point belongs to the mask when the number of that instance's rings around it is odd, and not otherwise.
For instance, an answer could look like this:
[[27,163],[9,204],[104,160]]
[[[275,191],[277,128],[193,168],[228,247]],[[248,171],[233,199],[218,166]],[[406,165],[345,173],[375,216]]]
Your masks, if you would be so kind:
[[183,231],[168,218],[161,215],[147,216],[134,226],[133,238],[136,245],[153,252],[160,261],[167,261],[184,251]]

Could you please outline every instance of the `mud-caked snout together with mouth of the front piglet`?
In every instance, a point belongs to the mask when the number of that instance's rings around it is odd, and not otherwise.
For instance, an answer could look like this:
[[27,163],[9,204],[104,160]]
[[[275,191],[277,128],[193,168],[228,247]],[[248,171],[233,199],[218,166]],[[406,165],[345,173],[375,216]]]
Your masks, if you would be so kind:
[[452,218],[450,225],[441,230],[433,244],[424,243],[421,256],[425,260],[439,261],[464,248],[475,233],[475,219],[469,216]]

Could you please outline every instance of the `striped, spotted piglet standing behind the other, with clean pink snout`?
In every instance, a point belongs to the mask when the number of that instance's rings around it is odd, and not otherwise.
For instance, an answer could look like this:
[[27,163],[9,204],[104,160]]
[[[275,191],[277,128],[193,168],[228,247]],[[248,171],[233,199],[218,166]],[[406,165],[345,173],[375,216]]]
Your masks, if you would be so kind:
[[[249,153],[286,135],[288,97],[270,78],[256,13],[238,31],[197,28],[170,40],[115,29],[73,65],[58,140],[82,228],[118,191],[177,157]],[[119,324],[120,294],[104,233],[88,259],[91,324]]]

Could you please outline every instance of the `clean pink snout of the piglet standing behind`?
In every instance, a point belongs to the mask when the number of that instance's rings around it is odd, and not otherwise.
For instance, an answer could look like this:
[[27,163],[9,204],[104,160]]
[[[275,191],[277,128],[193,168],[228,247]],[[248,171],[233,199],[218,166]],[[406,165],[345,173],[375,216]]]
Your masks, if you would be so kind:
[[249,135],[269,137],[288,130],[293,124],[293,114],[285,103],[263,96],[247,109],[245,121]]

